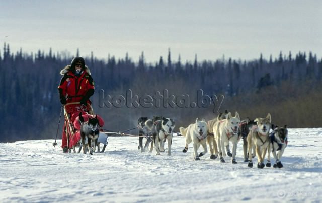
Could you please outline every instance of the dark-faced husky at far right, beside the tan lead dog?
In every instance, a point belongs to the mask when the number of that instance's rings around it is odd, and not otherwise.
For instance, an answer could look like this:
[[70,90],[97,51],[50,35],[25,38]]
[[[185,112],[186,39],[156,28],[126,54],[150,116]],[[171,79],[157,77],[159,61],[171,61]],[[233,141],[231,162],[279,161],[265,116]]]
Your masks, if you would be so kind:
[[[270,167],[270,152],[272,149],[272,154],[275,159],[275,164],[273,165],[274,168],[282,168],[283,164],[281,162],[281,157],[284,153],[284,150],[287,146],[287,135],[288,135],[288,130],[287,130],[287,125],[284,125],[284,127],[278,127],[276,125],[273,125],[272,128],[274,129],[273,132],[270,134],[270,147],[268,148],[268,158],[266,166]],[[276,151],[279,151],[276,155]]]

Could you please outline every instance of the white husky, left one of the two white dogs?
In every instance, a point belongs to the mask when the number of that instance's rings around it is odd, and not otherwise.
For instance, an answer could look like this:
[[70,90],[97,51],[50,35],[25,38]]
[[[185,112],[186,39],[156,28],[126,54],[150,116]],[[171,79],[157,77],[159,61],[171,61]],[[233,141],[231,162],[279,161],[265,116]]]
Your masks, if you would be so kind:
[[[208,126],[205,119],[198,120],[194,124],[190,124],[187,128],[180,127],[180,133],[186,137],[186,146],[182,152],[186,153],[188,151],[189,143],[193,142],[194,159],[200,160],[199,157],[207,153],[207,136],[208,136]],[[204,151],[198,155],[198,149],[202,145]]]

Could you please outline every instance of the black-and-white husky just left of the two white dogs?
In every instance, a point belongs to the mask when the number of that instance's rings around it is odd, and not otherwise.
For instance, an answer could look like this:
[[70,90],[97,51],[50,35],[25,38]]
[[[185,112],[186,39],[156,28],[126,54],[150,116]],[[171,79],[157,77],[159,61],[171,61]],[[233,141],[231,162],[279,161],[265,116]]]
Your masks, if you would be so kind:
[[164,144],[168,141],[168,156],[171,156],[171,145],[173,137],[173,129],[175,128],[175,121],[170,118],[162,117],[162,120],[156,121],[154,125],[155,131],[153,132],[153,142],[156,154],[164,152]]

